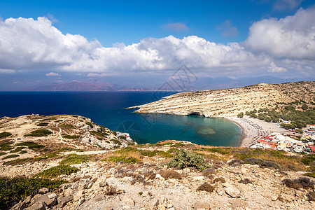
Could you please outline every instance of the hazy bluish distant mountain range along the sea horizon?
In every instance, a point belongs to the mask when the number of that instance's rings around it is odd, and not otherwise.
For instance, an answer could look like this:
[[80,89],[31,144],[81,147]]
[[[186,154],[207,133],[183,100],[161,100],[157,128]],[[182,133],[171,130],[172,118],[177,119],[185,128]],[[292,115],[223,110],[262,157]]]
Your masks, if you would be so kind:
[[[255,78],[228,78],[228,77],[200,77],[195,82],[185,83],[182,87],[170,81],[167,85],[151,87],[137,87],[130,83],[128,85],[117,85],[114,83],[104,83],[99,80],[89,80],[87,82],[72,81],[70,83],[41,83],[29,87],[22,87],[14,91],[154,91],[154,90],[174,90],[174,91],[195,91],[195,90],[218,90],[224,88],[244,87],[258,83],[286,83],[305,80],[305,78],[283,79],[274,76],[260,76]],[[308,78],[314,80],[314,78]]]

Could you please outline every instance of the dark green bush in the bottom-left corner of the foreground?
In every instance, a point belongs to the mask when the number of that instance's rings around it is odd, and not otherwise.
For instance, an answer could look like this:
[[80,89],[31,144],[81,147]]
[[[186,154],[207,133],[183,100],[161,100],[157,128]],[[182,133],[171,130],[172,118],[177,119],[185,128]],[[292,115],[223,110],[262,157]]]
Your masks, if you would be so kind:
[[0,177],[0,209],[10,209],[20,200],[24,200],[27,196],[33,197],[38,193],[40,188],[48,188],[53,190],[59,187],[63,180],[49,179],[27,179],[25,177],[15,177],[13,179]]

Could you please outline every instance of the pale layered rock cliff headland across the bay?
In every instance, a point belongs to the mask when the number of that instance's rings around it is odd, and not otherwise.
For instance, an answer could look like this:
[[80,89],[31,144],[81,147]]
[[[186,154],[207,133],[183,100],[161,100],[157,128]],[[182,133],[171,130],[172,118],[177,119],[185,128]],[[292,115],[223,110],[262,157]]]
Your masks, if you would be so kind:
[[157,102],[131,107],[138,113],[196,114],[207,117],[237,116],[240,112],[274,108],[281,103],[301,101],[314,107],[315,82],[266,84],[247,87],[181,92]]

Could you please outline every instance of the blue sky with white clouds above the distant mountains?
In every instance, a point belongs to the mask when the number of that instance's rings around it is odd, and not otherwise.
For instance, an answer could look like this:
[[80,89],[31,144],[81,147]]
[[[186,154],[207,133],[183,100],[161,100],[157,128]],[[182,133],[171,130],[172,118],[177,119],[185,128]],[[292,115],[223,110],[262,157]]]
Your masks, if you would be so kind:
[[[0,90],[100,80],[315,78],[310,0],[0,1]],[[268,83],[268,80],[265,81]]]

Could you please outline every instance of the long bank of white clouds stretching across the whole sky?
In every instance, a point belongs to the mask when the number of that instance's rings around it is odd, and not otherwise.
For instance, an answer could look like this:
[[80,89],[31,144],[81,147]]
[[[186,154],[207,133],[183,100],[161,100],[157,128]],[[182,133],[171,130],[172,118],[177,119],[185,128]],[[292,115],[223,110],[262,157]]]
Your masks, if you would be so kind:
[[[1,69],[52,71],[46,75],[60,76],[55,71],[70,71],[104,77],[129,71],[164,72],[186,64],[208,76],[239,76],[285,72],[295,63],[300,65],[295,71],[304,71],[303,66],[315,66],[314,16],[314,9],[301,9],[281,20],[255,22],[244,43],[225,45],[198,36],[167,36],[111,48],[80,35],[62,34],[47,18],[9,18],[0,21],[0,73],[6,71]],[[225,26],[232,28],[230,22]]]

